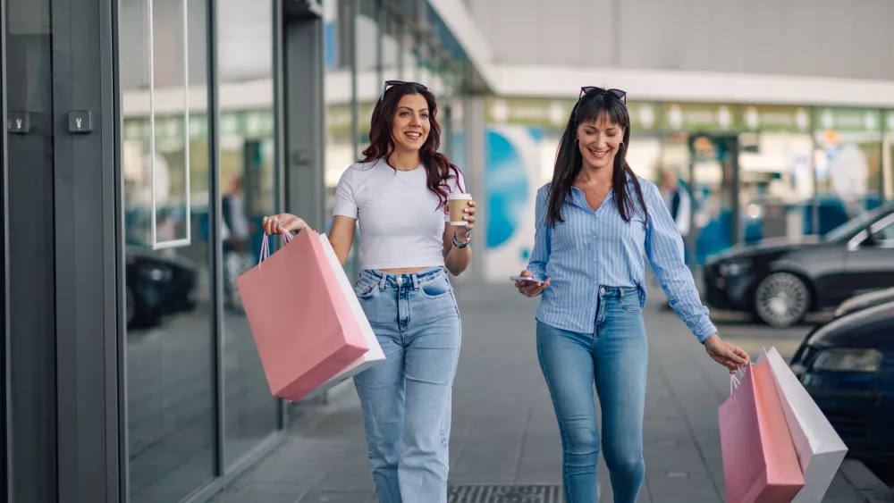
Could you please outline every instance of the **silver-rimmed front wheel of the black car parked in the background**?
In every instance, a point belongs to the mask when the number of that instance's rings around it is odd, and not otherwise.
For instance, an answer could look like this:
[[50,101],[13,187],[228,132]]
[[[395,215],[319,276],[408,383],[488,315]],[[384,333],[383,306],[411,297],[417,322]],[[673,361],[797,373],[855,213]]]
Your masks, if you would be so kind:
[[790,272],[773,272],[755,290],[755,313],[763,323],[785,328],[804,319],[810,307],[810,290]]

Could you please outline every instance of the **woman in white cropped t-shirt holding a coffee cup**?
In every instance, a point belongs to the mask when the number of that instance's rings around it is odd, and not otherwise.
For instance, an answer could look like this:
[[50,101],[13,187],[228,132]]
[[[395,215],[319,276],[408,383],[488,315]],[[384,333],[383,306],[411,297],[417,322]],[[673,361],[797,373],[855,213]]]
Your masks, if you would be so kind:
[[[441,127],[428,89],[389,80],[375,104],[365,159],[335,189],[329,240],[342,264],[360,225],[355,293],[385,361],[354,378],[375,492],[381,503],[444,502],[451,388],[460,356],[460,313],[445,269],[468,266],[468,226],[453,227],[447,197],[464,192],[460,170],[438,153]],[[301,231],[291,214],[265,218],[267,234]]]

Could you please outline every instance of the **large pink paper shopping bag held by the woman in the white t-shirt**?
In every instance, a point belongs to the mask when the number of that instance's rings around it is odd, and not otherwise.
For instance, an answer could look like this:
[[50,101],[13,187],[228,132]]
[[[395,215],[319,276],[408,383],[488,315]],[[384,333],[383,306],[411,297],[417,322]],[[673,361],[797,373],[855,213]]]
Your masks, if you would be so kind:
[[267,383],[298,401],[363,356],[369,346],[333,266],[312,231],[299,232],[237,280]]

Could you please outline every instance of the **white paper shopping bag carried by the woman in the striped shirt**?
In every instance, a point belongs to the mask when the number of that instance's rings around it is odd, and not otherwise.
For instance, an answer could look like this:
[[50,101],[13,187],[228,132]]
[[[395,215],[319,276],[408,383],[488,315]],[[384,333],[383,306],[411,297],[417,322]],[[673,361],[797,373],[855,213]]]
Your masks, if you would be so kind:
[[804,473],[804,488],[793,502],[818,503],[822,500],[832,478],[838,473],[848,447],[832,428],[810,394],[797,380],[776,348],[763,350],[760,360],[770,363],[773,381],[782,402],[786,423]]

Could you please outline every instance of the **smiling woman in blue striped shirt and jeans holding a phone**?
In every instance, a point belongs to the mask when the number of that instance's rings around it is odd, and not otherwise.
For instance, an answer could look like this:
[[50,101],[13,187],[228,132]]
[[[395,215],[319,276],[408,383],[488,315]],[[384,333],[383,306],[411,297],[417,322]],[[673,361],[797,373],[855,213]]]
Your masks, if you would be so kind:
[[527,297],[543,296],[537,356],[559,421],[568,503],[597,499],[594,381],[615,502],[636,501],[643,483],[644,251],[671,307],[708,355],[730,373],[747,360],[718,337],[659,190],[625,160],[626,96],[619,89],[581,89],[552,182],[537,191],[534,251],[521,272],[531,280],[516,281]]

